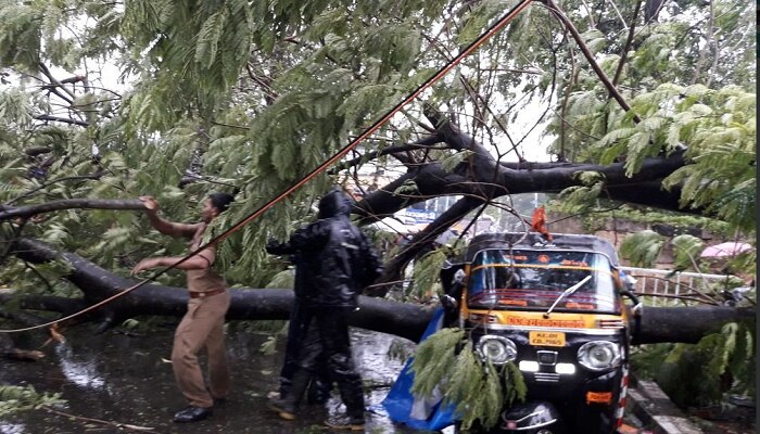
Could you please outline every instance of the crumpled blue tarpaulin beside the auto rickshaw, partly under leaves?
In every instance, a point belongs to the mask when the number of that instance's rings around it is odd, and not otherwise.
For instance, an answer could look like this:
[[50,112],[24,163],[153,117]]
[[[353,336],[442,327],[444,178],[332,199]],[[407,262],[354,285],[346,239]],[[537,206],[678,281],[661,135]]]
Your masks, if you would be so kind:
[[[439,331],[442,323],[443,308],[439,307],[425,330],[420,342]],[[413,358],[409,358],[406,361],[404,369],[382,401],[382,406],[388,411],[388,417],[394,422],[404,423],[417,430],[438,431],[454,424],[454,421],[457,419],[454,412],[456,406],[453,404],[443,406],[441,404],[443,399],[441,394],[425,398],[411,394],[411,384],[415,379],[414,372],[409,369],[411,360]]]

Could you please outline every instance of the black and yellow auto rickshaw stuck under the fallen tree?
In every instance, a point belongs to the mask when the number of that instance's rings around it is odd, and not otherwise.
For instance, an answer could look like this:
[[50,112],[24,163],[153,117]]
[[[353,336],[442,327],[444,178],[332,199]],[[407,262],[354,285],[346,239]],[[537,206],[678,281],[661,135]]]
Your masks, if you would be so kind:
[[528,386],[525,401],[505,408],[487,433],[617,431],[641,304],[609,242],[577,234],[552,241],[532,232],[481,234],[441,277],[449,319],[470,331],[483,359],[517,365]]

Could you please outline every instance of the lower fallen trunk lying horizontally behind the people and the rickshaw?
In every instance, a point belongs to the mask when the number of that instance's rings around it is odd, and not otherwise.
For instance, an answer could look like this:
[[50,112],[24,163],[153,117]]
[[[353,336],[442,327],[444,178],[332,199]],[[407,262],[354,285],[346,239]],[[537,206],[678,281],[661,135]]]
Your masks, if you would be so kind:
[[[81,298],[21,295],[21,306],[24,309],[51,310],[66,316],[136,283],[135,280],[114,275],[79,255],[56,252],[39,241],[20,239],[12,251],[29,263],[66,261],[71,266],[66,279],[83,292]],[[282,320],[289,317],[293,298],[290,290],[241,288],[230,292],[232,299],[228,320]],[[14,296],[12,293],[2,293],[0,303]],[[99,321],[100,328],[105,329],[143,315],[180,317],[186,311],[187,301],[188,293],[183,288],[145,284],[89,312],[85,319]],[[359,297],[359,310],[351,316],[353,327],[411,341],[419,340],[432,316],[430,307],[368,296]],[[725,322],[751,318],[753,315],[750,309],[727,306],[647,307],[637,327],[635,343],[696,343],[702,335]]]

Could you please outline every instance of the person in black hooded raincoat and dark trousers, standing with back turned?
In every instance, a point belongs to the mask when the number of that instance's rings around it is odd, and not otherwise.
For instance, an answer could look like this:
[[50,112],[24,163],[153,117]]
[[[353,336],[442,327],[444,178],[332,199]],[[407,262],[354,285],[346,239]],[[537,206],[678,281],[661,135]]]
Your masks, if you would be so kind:
[[364,394],[351,355],[347,316],[356,310],[359,292],[382,272],[367,237],[351,222],[351,200],[333,189],[319,201],[318,220],[299,229],[284,243],[270,242],[271,254],[297,254],[296,270],[303,343],[290,391],[269,407],[280,418],[295,419],[320,357],[338,385],[346,416],[325,423],[338,430],[364,430]]

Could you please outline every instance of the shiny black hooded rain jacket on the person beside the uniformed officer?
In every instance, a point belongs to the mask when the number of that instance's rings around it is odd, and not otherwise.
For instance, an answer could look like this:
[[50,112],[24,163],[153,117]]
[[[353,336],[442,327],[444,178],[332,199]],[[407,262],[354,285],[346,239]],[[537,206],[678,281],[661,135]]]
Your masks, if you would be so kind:
[[351,200],[332,190],[319,201],[318,220],[296,230],[286,244],[267,252],[295,254],[295,295],[305,306],[357,306],[357,296],[382,273],[382,264],[367,237],[349,216]]

